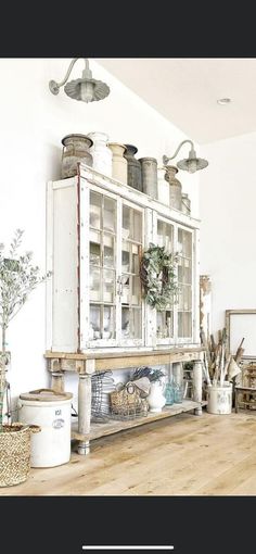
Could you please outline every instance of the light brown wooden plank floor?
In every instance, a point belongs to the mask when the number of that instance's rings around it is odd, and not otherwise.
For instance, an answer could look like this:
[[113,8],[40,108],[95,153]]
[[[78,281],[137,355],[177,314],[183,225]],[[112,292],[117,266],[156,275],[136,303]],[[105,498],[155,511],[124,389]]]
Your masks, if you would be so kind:
[[256,495],[256,414],[181,414],[98,439],[0,495]]

